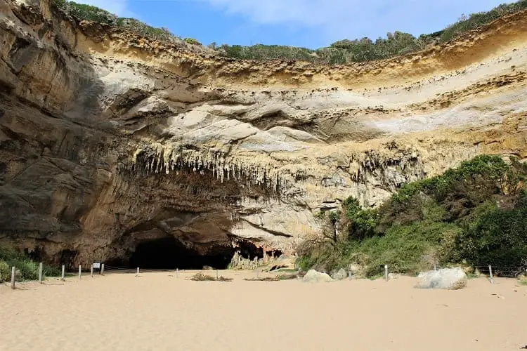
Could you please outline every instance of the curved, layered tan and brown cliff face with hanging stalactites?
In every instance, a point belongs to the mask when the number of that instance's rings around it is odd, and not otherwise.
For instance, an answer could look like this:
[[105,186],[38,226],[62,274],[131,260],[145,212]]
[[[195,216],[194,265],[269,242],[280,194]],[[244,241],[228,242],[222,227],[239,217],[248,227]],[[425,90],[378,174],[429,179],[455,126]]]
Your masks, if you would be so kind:
[[74,264],[170,237],[290,255],[346,197],[376,206],[476,154],[526,158],[526,25],[327,67],[186,52],[0,0],[0,240]]

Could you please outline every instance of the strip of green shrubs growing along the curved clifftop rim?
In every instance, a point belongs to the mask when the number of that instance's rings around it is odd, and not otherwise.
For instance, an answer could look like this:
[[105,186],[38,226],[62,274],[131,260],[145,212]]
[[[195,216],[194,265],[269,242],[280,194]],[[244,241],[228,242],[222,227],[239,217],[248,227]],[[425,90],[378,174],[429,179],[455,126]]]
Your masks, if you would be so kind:
[[[53,8],[63,11],[79,20],[89,20],[105,25],[124,27],[131,32],[136,32],[137,34],[152,39],[202,47],[196,39],[181,39],[172,34],[167,28],[151,27],[134,18],[119,18],[96,6],[77,4],[74,1],[67,0],[52,0],[52,4]],[[330,65],[382,60],[397,55],[417,52],[427,48],[427,46],[445,43],[454,39],[457,35],[488,25],[503,15],[516,13],[526,8],[527,0],[520,0],[513,4],[502,4],[487,12],[472,13],[468,16],[462,15],[453,25],[439,32],[421,34],[417,38],[410,33],[396,31],[393,34],[388,33],[386,38],[378,38],[375,41],[369,38],[355,40],[344,39],[334,42],[329,47],[318,48],[316,50],[294,46],[262,44],[256,44],[254,46],[231,46],[223,44],[216,46],[216,43],[210,44],[207,48],[202,47],[202,50],[209,50],[219,55],[242,60],[302,60]]]

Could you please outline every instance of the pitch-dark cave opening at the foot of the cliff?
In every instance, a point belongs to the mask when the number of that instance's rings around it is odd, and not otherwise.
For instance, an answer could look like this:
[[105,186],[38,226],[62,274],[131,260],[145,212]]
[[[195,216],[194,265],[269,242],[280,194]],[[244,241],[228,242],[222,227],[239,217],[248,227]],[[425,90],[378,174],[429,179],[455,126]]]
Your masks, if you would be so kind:
[[129,264],[150,270],[202,270],[204,266],[224,270],[233,258],[234,249],[229,246],[214,248],[212,254],[200,255],[188,249],[175,238],[142,241],[132,253]]

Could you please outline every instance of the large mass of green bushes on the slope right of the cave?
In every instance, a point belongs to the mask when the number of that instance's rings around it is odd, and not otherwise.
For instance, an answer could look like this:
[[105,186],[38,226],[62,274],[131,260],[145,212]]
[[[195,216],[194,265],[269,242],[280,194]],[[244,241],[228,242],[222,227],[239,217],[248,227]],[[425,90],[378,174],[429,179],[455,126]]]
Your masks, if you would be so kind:
[[527,164],[483,155],[404,185],[376,209],[360,208],[351,197],[336,215],[318,215],[326,234],[300,248],[299,265],[332,272],[352,264],[365,276],[380,274],[384,265],[404,274],[434,264],[524,272],[526,180]]

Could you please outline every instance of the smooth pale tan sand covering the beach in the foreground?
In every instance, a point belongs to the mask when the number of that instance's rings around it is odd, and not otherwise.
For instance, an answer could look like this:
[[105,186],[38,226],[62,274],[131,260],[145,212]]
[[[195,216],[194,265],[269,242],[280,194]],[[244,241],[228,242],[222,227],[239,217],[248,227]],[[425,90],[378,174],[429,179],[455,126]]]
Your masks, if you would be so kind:
[[[0,286],[0,350],[519,350],[527,286],[416,279],[193,282],[194,272],[106,274]],[[215,275],[214,272],[208,272]]]

